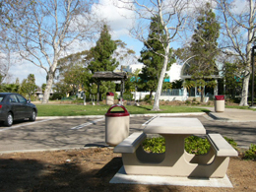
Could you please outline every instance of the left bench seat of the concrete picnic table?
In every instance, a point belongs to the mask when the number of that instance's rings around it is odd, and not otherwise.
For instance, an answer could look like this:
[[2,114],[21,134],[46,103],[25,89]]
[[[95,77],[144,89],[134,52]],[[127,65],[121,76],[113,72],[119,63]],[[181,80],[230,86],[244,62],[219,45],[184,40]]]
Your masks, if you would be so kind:
[[140,144],[146,139],[147,135],[143,132],[135,132],[114,148],[114,153],[135,153]]

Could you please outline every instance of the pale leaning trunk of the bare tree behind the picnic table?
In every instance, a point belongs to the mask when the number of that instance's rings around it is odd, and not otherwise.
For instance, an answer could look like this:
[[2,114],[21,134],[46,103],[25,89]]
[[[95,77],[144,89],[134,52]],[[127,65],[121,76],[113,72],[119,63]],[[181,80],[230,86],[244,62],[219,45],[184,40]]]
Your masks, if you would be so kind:
[[167,67],[167,63],[168,63],[168,54],[169,54],[169,46],[166,47],[165,50],[165,55],[164,55],[164,60],[163,60],[163,66],[162,69],[160,71],[160,79],[159,79],[159,85],[158,85],[158,89],[156,92],[156,96],[155,96],[155,100],[154,100],[154,105],[153,105],[153,109],[152,110],[160,110],[160,92],[161,92],[161,88],[162,88],[162,82],[163,82],[163,78],[166,72],[166,67]]

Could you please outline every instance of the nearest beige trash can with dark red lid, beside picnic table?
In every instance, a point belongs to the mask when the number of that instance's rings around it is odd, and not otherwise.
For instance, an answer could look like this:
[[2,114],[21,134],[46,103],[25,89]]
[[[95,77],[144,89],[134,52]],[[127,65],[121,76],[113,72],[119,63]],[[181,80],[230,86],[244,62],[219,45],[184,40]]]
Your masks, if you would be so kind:
[[[113,108],[122,111],[111,111]],[[112,105],[105,113],[105,143],[116,146],[129,136],[130,114],[121,104]]]

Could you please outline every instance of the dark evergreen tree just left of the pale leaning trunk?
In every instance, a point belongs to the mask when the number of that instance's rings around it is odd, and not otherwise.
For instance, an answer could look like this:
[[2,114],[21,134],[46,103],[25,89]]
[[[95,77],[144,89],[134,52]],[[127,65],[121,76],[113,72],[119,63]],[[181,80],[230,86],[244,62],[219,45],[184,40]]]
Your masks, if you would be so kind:
[[[141,79],[140,87],[144,91],[150,91],[150,98],[152,98],[153,92],[157,91],[158,88],[160,72],[164,60],[162,57],[162,54],[164,54],[164,49],[160,40],[158,39],[164,39],[166,38],[166,35],[164,34],[162,25],[160,24],[159,16],[152,18],[150,29],[151,32],[149,34],[149,38],[144,43],[144,48],[141,51],[141,58],[138,61],[145,65],[145,67],[142,68],[142,73],[139,74]],[[175,59],[170,55],[171,49],[169,50],[169,59],[166,70],[169,70],[171,64],[175,62]]]

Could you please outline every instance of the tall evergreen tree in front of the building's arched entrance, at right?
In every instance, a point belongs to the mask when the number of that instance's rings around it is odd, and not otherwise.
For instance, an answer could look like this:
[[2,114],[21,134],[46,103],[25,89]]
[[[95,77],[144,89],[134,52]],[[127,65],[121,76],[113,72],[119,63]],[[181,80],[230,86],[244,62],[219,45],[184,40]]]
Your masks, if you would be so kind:
[[205,87],[215,87],[212,75],[219,75],[216,67],[216,56],[219,54],[217,39],[220,36],[220,24],[212,11],[209,3],[200,10],[197,18],[197,28],[192,35],[190,51],[194,55],[189,62],[189,73],[195,80],[197,87],[200,87],[201,101],[204,100]]

